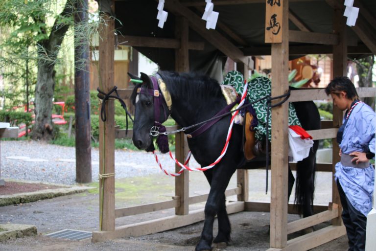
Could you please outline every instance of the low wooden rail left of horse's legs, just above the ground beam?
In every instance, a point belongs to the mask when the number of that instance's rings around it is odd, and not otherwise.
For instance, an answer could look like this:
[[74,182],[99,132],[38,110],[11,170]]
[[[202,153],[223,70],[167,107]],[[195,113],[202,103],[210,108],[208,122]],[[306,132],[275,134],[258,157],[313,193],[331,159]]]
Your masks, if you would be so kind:
[[115,218],[169,209],[169,208],[177,207],[179,206],[179,204],[180,204],[179,199],[173,199],[173,200],[163,201],[163,202],[158,202],[158,203],[117,208],[115,209]]

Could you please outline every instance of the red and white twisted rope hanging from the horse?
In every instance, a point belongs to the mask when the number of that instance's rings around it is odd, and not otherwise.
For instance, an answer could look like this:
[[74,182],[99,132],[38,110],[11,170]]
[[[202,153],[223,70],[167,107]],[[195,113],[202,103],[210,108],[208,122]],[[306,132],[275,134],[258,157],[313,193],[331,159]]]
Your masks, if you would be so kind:
[[[243,92],[242,92],[242,94],[241,94],[240,103],[237,105],[236,109],[238,109],[239,107],[241,107],[241,106],[244,104],[244,102],[245,102],[245,97],[247,96],[247,87],[248,87],[248,84],[245,82],[245,83],[244,83],[244,89],[243,89]],[[168,176],[172,176],[172,177],[175,177],[175,176],[179,176],[179,175],[181,175],[181,174],[184,172],[184,170],[188,170],[188,171],[206,171],[206,170],[208,170],[208,169],[213,168],[216,164],[219,163],[219,161],[222,160],[223,156],[226,154],[226,151],[227,151],[227,148],[228,148],[228,146],[229,146],[229,142],[230,142],[230,139],[231,139],[231,136],[232,136],[232,132],[233,132],[234,118],[235,118],[235,116],[236,116],[238,113],[239,113],[239,111],[235,111],[235,113],[234,113],[233,116],[231,117],[229,130],[228,130],[228,132],[227,132],[226,142],[225,142],[225,145],[224,145],[224,147],[223,147],[223,149],[222,149],[221,154],[220,154],[219,157],[218,157],[214,162],[212,162],[210,165],[205,166],[205,167],[201,167],[201,168],[190,168],[190,167],[187,166],[188,161],[189,161],[189,158],[190,158],[190,155],[191,155],[191,154],[190,154],[190,151],[189,151],[189,154],[188,154],[188,156],[187,156],[187,160],[185,161],[184,164],[180,163],[176,158],[174,158],[174,157],[172,156],[171,151],[170,151],[170,152],[169,152],[169,155],[170,155],[171,159],[174,160],[175,163],[178,164],[178,165],[179,165],[180,167],[182,167],[182,168],[181,168],[180,171],[177,172],[177,173],[169,173],[169,172],[167,172],[167,171],[162,167],[162,164],[161,164],[161,162],[159,161],[157,154],[155,153],[155,151],[153,151],[153,154],[154,154],[154,156],[155,156],[155,160],[157,161],[157,163],[158,163],[159,167],[161,168],[161,170],[162,170],[166,175],[168,175]]]

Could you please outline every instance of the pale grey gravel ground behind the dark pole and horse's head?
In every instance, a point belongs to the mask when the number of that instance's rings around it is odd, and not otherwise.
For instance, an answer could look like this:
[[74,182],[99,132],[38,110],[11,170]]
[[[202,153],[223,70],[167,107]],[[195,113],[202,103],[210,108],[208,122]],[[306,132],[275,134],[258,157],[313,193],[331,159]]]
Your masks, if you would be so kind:
[[[36,141],[1,141],[1,179],[75,184],[75,148]],[[167,155],[159,157],[167,166]],[[198,167],[191,159],[189,164]],[[99,149],[92,149],[92,180],[98,181]],[[153,154],[143,151],[116,150],[116,178],[129,178],[160,173]]]

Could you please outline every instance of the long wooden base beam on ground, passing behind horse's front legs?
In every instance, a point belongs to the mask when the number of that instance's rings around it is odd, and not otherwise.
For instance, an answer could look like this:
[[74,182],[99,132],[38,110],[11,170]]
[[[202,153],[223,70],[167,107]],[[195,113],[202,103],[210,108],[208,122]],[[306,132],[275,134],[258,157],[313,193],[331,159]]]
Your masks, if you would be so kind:
[[[244,210],[244,202],[232,202],[226,206],[227,212],[237,213]],[[174,215],[161,219],[145,221],[136,224],[121,226],[113,231],[94,231],[93,242],[125,237],[141,236],[150,233],[165,231],[172,228],[180,228],[193,224],[204,219],[204,209],[198,209],[190,212],[188,215]]]

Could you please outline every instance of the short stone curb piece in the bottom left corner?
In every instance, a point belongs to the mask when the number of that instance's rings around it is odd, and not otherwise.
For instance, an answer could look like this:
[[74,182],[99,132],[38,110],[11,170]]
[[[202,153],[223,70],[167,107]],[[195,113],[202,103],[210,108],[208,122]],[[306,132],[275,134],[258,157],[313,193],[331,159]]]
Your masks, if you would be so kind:
[[37,234],[37,228],[33,225],[0,224],[0,242]]

